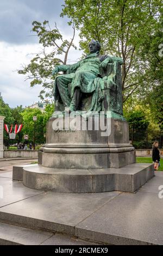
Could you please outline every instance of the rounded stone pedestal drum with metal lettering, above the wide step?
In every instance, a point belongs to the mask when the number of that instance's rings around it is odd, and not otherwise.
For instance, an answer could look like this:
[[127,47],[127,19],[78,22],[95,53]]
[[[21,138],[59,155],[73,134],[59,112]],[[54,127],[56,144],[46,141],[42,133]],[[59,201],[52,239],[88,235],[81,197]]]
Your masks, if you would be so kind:
[[[47,142],[39,156],[42,166],[96,169],[121,168],[135,163],[135,151],[129,143],[128,123],[124,118],[97,116],[85,120],[81,116],[70,117],[69,130],[65,128],[66,118],[62,121],[62,118],[53,117],[48,121]],[[107,131],[104,131],[106,121]]]

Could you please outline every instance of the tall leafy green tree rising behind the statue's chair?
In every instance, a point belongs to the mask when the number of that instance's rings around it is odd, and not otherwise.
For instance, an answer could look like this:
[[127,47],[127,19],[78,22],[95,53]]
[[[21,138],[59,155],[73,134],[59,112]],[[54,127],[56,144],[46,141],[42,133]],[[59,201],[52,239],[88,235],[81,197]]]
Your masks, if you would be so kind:
[[[153,84],[143,49],[155,32],[161,33],[161,0],[65,0],[61,16],[73,18],[80,31],[80,46],[98,39],[102,53],[123,58],[123,102],[134,92],[144,95]],[[151,47],[151,45],[150,45]],[[147,58],[148,57],[148,58]]]

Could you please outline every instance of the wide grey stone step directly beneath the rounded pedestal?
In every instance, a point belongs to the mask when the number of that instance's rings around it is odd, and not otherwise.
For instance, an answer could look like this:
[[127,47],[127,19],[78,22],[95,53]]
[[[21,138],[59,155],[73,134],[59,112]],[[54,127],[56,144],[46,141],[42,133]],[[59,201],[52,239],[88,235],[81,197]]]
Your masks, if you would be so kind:
[[135,192],[153,176],[151,163],[101,169],[57,169],[39,164],[13,167],[13,179],[22,180],[26,187],[61,193]]

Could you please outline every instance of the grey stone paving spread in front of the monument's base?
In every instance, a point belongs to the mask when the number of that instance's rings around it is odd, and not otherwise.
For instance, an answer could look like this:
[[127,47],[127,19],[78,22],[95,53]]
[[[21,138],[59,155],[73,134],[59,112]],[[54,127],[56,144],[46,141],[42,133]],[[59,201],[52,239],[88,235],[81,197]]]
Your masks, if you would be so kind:
[[55,193],[12,181],[12,166],[0,162],[0,244],[163,245],[163,172],[136,193]]

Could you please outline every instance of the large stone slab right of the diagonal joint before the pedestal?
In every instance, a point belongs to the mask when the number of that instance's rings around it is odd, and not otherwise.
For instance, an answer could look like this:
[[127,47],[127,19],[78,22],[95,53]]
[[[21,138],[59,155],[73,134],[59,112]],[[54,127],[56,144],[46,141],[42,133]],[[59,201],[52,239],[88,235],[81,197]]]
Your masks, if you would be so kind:
[[163,199],[122,193],[78,224],[75,234],[114,245],[163,245]]

